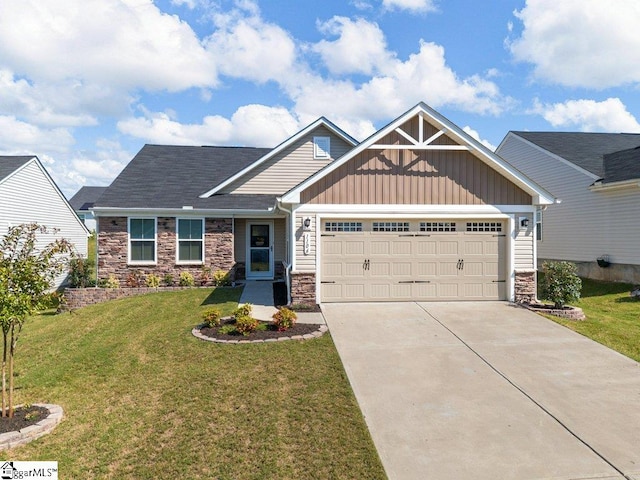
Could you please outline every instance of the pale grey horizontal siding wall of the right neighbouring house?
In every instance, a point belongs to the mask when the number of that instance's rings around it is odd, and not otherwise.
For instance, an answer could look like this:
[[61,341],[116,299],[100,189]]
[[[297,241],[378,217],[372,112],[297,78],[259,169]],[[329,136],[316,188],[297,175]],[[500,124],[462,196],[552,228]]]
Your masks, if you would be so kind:
[[640,189],[591,191],[593,176],[514,136],[496,153],[561,200],[542,212],[538,258],[640,264]]

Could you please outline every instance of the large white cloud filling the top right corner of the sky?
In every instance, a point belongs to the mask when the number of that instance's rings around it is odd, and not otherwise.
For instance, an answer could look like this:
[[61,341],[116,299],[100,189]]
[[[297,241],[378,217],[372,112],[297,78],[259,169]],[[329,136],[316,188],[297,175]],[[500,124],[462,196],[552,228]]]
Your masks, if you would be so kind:
[[509,48],[537,78],[574,87],[640,82],[637,0],[527,0],[524,29]]

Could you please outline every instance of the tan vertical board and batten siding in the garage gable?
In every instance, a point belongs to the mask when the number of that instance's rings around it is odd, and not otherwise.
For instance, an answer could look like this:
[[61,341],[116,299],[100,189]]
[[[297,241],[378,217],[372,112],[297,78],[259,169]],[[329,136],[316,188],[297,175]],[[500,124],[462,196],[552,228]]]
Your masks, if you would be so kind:
[[531,196],[467,151],[365,150],[302,192],[302,203],[531,205]]

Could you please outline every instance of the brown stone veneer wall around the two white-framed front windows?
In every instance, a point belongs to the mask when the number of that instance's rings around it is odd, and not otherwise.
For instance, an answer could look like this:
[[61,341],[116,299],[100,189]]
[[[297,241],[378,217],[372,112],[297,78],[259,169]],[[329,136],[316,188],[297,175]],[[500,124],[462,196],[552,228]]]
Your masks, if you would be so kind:
[[[158,217],[156,265],[128,264],[127,217],[98,218],[98,275],[101,280],[114,275],[125,286],[132,272],[146,276],[150,273],[161,279],[171,274],[178,281],[181,272],[191,272],[198,279],[202,267],[212,272],[223,270],[233,277],[233,223],[230,218],[206,218],[204,234],[204,265],[176,264],[176,219]],[[232,278],[233,280],[233,278]]]

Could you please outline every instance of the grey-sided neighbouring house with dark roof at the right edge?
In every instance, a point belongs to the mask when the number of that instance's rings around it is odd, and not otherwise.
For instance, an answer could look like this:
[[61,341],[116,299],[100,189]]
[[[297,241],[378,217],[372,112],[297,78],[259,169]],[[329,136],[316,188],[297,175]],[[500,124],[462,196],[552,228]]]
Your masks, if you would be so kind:
[[561,201],[538,213],[539,261],[640,283],[640,135],[509,132],[496,153]]

